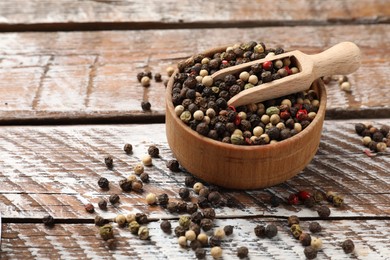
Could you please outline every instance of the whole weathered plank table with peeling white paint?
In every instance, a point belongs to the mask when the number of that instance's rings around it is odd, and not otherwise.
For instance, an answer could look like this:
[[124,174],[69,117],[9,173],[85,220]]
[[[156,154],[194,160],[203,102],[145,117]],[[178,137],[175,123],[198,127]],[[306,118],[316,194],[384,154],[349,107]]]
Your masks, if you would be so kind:
[[[313,161],[280,185],[252,191],[221,190],[234,207],[217,208],[216,227],[233,225],[222,242],[223,259],[236,259],[239,246],[250,259],[304,259],[287,217],[298,215],[307,230],[318,221],[323,249],[318,259],[390,259],[390,156],[368,157],[354,132],[357,122],[390,125],[390,5],[377,1],[49,1],[0,3],[0,212],[1,259],[194,259],[161,219],[178,225],[180,214],[148,206],[145,195],[167,193],[179,201],[189,173],[173,173],[164,127],[163,83],[143,88],[136,74],[160,72],[213,46],[249,40],[307,53],[341,41],[362,50],[362,66],[349,76],[352,92],[327,86],[323,136]],[[149,100],[151,112],[141,101]],[[131,143],[127,155],[123,145]],[[146,168],[150,183],[142,193],[123,193],[118,181],[150,145],[160,158]],[[108,170],[104,157],[114,158]],[[102,191],[100,176],[111,181]],[[342,208],[329,219],[303,205],[273,208],[271,195],[285,199],[300,190],[335,191]],[[117,193],[121,203],[106,212],[95,206]],[[196,202],[196,195],[192,200]],[[149,240],[115,227],[116,249],[108,248],[94,218],[145,212]],[[52,215],[53,228],[42,224]],[[274,223],[278,235],[257,238],[254,227]],[[353,254],[340,244],[354,241]],[[210,248],[206,248],[207,259]]]

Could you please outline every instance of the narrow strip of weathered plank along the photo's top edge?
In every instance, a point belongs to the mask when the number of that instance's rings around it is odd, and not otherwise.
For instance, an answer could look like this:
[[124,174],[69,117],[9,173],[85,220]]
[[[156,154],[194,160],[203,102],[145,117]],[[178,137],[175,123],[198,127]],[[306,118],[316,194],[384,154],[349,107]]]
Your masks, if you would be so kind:
[[388,22],[386,0],[376,1],[49,1],[0,4],[0,30],[104,30]]

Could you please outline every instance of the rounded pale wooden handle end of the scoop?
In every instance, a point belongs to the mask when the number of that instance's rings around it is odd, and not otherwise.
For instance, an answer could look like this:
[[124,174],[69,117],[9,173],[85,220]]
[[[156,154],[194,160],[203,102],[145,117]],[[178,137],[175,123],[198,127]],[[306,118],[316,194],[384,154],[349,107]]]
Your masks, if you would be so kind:
[[356,71],[361,63],[360,49],[353,42],[341,42],[309,56],[313,61],[314,78],[350,74]]

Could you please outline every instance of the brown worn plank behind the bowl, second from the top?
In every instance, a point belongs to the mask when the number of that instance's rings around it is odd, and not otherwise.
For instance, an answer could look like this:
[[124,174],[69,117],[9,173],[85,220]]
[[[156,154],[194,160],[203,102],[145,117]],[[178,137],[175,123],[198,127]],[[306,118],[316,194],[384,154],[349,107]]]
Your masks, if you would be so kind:
[[[350,75],[353,91],[329,85],[328,116],[388,118],[390,32],[386,25],[359,25],[5,33],[0,39],[0,122],[162,122],[164,85],[152,82],[143,88],[138,72],[149,69],[166,79],[168,66],[194,53],[253,39],[307,53],[356,42],[363,62]],[[151,112],[141,110],[142,100],[150,101]]]

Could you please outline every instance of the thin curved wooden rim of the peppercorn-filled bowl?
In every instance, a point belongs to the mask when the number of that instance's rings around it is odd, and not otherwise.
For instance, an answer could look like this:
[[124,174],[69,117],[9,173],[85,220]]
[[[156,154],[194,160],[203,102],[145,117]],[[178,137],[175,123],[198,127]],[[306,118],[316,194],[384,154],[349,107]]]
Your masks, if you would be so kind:
[[[209,54],[212,52],[224,50],[226,47],[218,47],[218,48],[213,48],[210,50],[207,50],[203,52],[202,54]],[[190,57],[191,58],[191,57]],[[189,59],[190,59],[189,58]],[[265,152],[269,149],[282,149],[283,147],[287,147],[292,143],[296,143],[299,140],[304,139],[307,135],[310,134],[311,130],[315,127],[317,123],[320,123],[321,117],[325,117],[325,111],[326,111],[326,103],[327,103],[327,93],[326,93],[326,88],[323,83],[323,81],[319,78],[316,79],[310,86],[310,88],[313,87],[314,84],[318,84],[318,89],[319,89],[319,101],[320,101],[320,106],[318,108],[317,114],[313,121],[301,132],[298,134],[289,137],[285,140],[278,141],[277,143],[272,143],[272,144],[266,144],[266,145],[236,145],[236,144],[231,144],[231,143],[224,143],[218,140],[211,139],[209,137],[203,136],[196,131],[192,130],[187,124],[185,124],[180,118],[176,115],[174,112],[175,108],[172,102],[172,87],[174,83],[174,78],[175,76],[179,73],[178,68],[175,69],[174,73],[172,76],[169,78],[167,88],[166,88],[166,96],[165,96],[165,101],[166,101],[166,113],[170,113],[171,117],[173,120],[175,120],[176,123],[178,123],[181,127],[184,128],[184,130],[190,134],[192,138],[195,138],[199,142],[204,142],[208,143],[209,145],[213,146],[219,146],[220,148],[226,148],[230,149],[233,151],[256,151],[256,152]],[[323,114],[323,115],[322,115]]]

